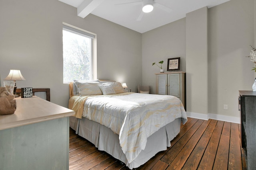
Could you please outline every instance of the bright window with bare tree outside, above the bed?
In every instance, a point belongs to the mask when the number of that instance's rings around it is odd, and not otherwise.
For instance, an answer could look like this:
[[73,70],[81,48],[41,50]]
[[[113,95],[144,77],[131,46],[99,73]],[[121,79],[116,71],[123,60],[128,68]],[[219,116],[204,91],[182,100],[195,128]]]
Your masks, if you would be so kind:
[[92,80],[94,35],[63,25],[63,83]]

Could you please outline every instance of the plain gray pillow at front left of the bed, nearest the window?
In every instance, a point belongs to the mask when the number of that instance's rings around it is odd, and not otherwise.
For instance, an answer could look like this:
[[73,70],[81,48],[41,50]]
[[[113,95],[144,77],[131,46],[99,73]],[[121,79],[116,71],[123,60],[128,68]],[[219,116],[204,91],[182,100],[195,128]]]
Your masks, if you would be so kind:
[[102,95],[100,82],[74,82],[80,96]]

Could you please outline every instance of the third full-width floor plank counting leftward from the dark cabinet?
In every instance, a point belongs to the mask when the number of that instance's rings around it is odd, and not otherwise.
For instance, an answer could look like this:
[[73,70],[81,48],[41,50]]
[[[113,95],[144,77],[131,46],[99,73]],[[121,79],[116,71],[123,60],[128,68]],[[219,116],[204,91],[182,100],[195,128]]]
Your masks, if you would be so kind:
[[204,152],[202,160],[200,161],[198,169],[212,169],[223,125],[223,121],[218,121],[218,123],[216,124],[216,127],[212,133],[212,137],[210,138],[210,141],[206,147],[206,150]]

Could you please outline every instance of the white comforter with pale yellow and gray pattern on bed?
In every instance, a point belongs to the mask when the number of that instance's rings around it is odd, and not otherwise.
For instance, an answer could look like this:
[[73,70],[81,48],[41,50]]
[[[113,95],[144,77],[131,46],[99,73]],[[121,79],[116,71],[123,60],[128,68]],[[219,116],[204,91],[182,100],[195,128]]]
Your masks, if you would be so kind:
[[145,149],[147,138],[186,112],[174,96],[130,93],[124,96],[86,98],[83,117],[110,128],[119,135],[120,146],[128,162]]

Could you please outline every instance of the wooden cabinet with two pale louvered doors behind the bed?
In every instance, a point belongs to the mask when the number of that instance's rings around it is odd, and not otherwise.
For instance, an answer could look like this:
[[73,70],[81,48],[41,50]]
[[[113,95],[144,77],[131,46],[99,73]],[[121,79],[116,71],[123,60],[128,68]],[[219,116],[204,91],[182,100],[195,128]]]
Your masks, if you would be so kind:
[[171,95],[179,98],[186,109],[186,73],[157,73],[156,94]]

